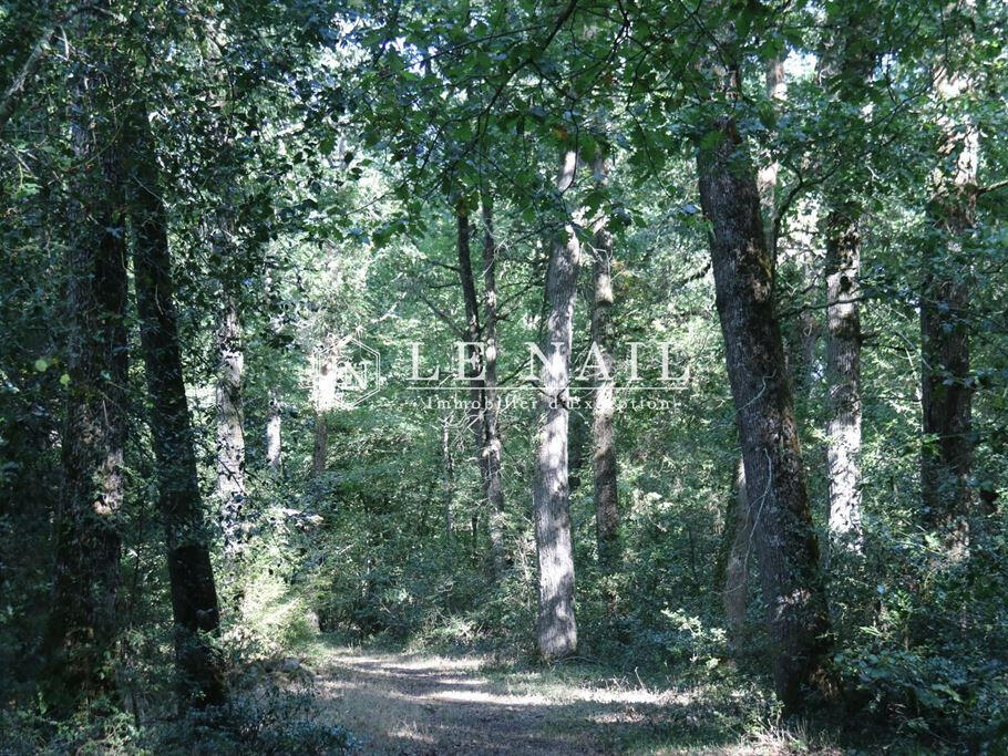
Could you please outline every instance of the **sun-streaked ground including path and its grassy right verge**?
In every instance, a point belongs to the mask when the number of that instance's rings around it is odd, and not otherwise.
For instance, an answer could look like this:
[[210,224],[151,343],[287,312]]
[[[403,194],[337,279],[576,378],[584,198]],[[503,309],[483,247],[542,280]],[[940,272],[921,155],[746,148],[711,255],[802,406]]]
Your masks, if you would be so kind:
[[326,646],[322,716],[367,754],[783,754],[810,749],[774,727],[740,733],[702,687],[657,690],[576,665],[510,670],[483,655]]

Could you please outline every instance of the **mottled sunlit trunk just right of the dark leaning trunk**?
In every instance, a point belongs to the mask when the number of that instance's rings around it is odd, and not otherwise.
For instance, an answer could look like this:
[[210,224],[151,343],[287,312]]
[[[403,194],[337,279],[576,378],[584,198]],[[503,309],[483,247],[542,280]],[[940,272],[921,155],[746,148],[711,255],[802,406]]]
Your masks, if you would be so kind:
[[241,325],[228,297],[217,327],[217,496],[224,553],[234,558],[245,540],[245,414],[241,407]]

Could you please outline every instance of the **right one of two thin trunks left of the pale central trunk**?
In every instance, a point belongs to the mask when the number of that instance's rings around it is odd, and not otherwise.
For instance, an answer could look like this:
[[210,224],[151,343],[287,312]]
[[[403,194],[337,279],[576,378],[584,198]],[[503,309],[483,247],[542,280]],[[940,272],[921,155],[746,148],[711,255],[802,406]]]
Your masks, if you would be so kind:
[[486,460],[486,499],[490,503],[490,547],[494,579],[506,569],[504,551],[504,479],[501,472],[501,400],[497,392],[497,246],[493,232],[493,200],[482,196],[483,205],[483,297],[484,353],[486,375],[483,380],[483,432]]

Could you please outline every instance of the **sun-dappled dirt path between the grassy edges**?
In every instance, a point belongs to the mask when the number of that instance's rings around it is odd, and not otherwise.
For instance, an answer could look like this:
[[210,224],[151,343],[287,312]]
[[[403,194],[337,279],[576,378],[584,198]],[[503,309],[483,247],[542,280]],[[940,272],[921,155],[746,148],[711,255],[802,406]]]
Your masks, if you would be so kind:
[[327,708],[368,754],[627,753],[681,706],[669,693],[615,681],[485,674],[479,656],[336,649],[323,664],[317,680]]

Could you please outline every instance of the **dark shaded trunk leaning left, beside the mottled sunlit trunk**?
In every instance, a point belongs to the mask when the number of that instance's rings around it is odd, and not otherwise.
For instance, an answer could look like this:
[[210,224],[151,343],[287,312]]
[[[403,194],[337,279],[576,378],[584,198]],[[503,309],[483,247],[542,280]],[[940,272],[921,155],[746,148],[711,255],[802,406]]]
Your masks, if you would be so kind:
[[222,665],[207,635],[217,633],[220,612],[183,383],[167,215],[143,108],[136,113],[131,131],[135,139],[128,188],[135,235],[136,305],[151,397],[158,506],[168,550],[179,693],[184,701],[196,705],[218,704],[224,698]]

